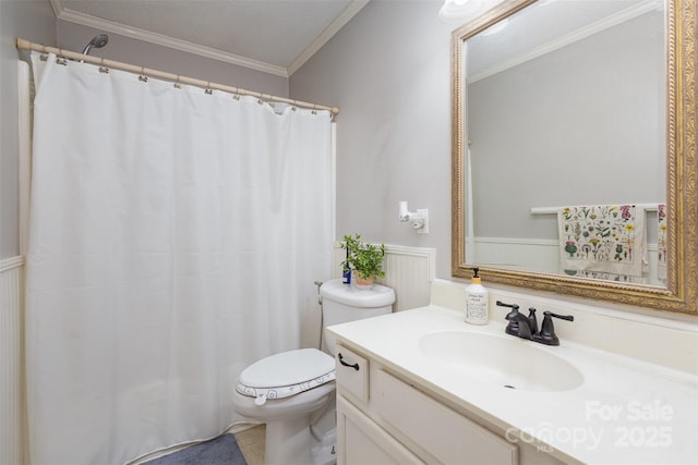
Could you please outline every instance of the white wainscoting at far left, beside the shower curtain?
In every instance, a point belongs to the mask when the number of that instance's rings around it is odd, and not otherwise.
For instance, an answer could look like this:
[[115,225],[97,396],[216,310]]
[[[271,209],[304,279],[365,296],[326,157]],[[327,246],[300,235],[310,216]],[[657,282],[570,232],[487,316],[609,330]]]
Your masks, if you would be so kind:
[[0,260],[0,464],[24,463],[23,266]]

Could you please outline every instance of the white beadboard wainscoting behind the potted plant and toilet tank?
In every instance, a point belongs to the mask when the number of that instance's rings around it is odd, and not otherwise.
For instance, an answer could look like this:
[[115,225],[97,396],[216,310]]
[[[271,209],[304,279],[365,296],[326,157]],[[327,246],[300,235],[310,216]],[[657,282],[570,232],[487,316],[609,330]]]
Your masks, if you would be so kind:
[[[337,242],[333,278],[341,278],[339,264],[344,259],[345,250]],[[380,283],[395,290],[394,311],[429,305],[436,269],[436,249],[386,244],[383,269],[385,278]]]

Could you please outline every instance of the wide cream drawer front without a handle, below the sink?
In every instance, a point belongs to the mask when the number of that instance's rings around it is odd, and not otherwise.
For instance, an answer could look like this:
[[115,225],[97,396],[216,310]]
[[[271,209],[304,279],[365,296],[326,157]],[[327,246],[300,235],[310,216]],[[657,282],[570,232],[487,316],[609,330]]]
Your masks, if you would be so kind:
[[377,414],[440,462],[517,464],[515,444],[381,369],[375,377]]

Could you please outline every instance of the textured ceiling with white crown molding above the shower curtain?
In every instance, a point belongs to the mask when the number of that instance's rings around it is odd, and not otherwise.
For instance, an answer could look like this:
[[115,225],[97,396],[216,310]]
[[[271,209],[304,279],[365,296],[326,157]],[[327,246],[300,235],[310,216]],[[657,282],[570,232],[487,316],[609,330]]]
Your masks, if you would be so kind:
[[51,0],[61,20],[279,75],[292,74],[366,2]]

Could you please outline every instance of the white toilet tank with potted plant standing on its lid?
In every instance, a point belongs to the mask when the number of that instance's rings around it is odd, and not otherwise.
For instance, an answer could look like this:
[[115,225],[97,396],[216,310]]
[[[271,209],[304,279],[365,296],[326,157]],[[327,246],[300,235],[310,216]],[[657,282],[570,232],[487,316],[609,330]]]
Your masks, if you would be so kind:
[[341,279],[327,281],[320,286],[323,297],[323,351],[335,354],[335,339],[325,328],[393,311],[395,292],[390,287],[374,284],[359,289],[345,284]]

